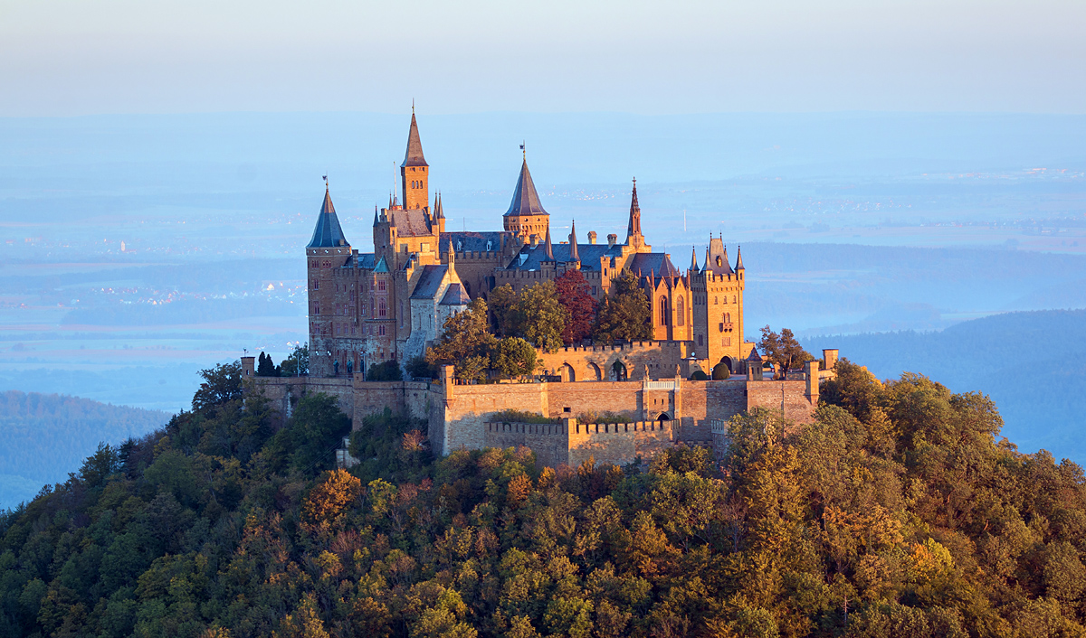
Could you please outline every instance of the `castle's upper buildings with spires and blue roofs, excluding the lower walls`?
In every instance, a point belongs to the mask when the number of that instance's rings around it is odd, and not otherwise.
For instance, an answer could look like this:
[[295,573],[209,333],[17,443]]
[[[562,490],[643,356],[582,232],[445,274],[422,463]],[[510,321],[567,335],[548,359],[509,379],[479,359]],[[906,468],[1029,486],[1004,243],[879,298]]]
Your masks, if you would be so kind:
[[[682,273],[670,255],[653,252],[642,234],[636,181],[622,243],[615,234],[607,235],[607,243],[597,243],[595,232],[588,233],[589,243],[579,243],[576,225],[567,241],[552,241],[551,216],[527,158],[502,217],[503,230],[446,231],[441,196],[430,203],[430,165],[414,113],[400,180],[403,202],[391,195],[388,207],[375,207],[372,253],[351,247],[325,190],[313,239],[305,247],[313,374],[364,374],[375,363],[405,362],[425,353],[445,318],[465,309],[470,299],[487,298],[506,283],[519,292],[569,270],[584,276],[597,301],[623,269],[635,273],[653,301],[654,339],[685,342],[689,352],[710,368],[723,362],[738,372],[752,350],[743,339],[742,255],[736,254],[732,266],[723,241],[714,238],[704,265],[699,267],[697,255],[692,255]],[[583,371],[570,372],[582,379],[578,372]],[[592,371],[582,380],[616,373]]]

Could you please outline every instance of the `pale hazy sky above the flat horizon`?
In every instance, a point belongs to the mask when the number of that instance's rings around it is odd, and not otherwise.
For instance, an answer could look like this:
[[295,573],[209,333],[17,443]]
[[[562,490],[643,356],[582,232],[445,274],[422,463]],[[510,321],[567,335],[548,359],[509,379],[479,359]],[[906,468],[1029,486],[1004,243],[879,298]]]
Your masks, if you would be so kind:
[[1086,113],[1083,0],[0,0],[0,115]]

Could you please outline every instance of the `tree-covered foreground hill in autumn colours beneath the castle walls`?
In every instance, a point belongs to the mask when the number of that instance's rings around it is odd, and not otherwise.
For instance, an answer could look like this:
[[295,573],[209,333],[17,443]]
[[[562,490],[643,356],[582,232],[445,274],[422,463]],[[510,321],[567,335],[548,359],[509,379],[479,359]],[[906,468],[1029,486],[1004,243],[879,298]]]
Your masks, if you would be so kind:
[[[0,516],[0,637],[1086,634],[1086,480],[995,405],[843,360],[817,422],[737,417],[722,462],[430,457],[313,395],[273,432],[216,374],[152,435]],[[227,383],[229,382],[229,383]]]

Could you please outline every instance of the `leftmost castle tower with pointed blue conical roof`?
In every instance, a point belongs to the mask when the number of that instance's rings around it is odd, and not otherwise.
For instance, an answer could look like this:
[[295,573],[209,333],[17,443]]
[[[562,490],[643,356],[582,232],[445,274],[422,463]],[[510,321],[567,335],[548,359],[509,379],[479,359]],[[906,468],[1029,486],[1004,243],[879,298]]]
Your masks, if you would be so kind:
[[332,197],[325,184],[325,201],[317,215],[313,238],[305,246],[306,279],[310,301],[310,353],[314,374],[330,373],[329,352],[336,326],[336,281],[333,271],[351,258],[351,244],[343,237]]

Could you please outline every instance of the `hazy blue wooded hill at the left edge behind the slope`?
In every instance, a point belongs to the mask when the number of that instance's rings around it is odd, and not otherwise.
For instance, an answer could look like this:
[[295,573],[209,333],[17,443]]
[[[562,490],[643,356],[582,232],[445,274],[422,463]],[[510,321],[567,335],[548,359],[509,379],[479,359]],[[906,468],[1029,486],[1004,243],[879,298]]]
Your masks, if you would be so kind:
[[162,428],[169,414],[58,394],[0,392],[0,507],[61,482],[99,442]]

